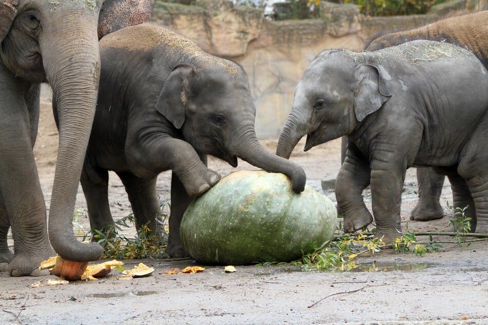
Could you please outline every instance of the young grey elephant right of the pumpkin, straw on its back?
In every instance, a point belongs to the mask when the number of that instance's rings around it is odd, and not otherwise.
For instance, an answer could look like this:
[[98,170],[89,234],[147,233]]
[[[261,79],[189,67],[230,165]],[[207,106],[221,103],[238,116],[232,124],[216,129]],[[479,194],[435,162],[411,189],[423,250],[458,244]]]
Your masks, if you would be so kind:
[[[289,157],[347,135],[336,182],[344,230],[373,221],[361,196],[370,182],[378,237],[401,233],[400,204],[408,167],[436,167],[466,189],[454,205],[475,206],[476,232],[488,232],[488,72],[473,53],[415,40],[375,52],[329,50],[305,71],[279,139]],[[475,222],[474,222],[475,224]]]

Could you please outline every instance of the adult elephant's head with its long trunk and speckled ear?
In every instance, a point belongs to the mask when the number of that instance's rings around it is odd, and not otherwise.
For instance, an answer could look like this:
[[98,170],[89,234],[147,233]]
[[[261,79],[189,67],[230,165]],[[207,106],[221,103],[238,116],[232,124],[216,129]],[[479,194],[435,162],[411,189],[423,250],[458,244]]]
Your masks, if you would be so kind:
[[98,40],[142,23],[152,1],[0,0],[0,65],[27,83],[48,82],[58,103],[60,140],[49,238],[68,260],[96,260],[103,252],[96,243],[77,241],[71,225],[98,91]]

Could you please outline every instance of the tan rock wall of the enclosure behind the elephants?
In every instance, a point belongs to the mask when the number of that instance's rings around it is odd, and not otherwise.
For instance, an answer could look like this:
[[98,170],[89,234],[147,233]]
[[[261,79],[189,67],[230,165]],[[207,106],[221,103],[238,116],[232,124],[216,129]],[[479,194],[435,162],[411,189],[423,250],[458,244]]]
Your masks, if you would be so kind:
[[[464,0],[464,13],[488,9],[488,0]],[[295,86],[320,52],[360,51],[379,33],[406,30],[461,13],[461,1],[434,6],[430,14],[365,17],[355,5],[322,1],[320,19],[268,21],[263,11],[228,0],[198,0],[196,6],[158,2],[149,21],[164,24],[214,55],[239,63],[256,103],[259,138],[280,134]]]

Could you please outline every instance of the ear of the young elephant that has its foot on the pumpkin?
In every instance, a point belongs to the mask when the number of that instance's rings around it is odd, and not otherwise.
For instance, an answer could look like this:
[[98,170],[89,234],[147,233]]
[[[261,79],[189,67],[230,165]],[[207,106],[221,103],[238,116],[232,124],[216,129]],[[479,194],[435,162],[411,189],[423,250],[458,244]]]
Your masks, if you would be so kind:
[[196,69],[190,65],[182,64],[175,67],[164,83],[156,103],[156,110],[177,129],[181,129],[185,123],[185,107],[189,95],[188,84],[194,73],[196,73]]

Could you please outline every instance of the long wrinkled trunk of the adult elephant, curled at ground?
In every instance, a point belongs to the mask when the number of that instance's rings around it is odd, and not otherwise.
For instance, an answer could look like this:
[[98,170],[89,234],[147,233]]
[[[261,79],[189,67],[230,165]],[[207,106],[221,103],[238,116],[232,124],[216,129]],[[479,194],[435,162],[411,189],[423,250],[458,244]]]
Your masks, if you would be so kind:
[[45,31],[48,36],[40,40],[46,77],[58,106],[60,131],[49,239],[62,258],[93,261],[102,257],[103,249],[97,243],[76,239],[72,217],[99,86],[98,13],[73,12],[58,19],[51,24],[56,27]]

